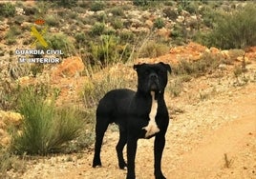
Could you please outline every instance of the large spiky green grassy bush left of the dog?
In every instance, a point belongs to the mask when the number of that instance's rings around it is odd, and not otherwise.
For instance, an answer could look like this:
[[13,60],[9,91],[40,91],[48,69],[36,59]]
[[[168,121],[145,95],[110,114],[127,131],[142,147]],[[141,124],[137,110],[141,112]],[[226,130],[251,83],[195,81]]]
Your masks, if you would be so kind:
[[11,149],[17,154],[59,152],[74,140],[83,128],[83,119],[75,109],[56,109],[47,100],[45,89],[27,87],[20,93],[19,112],[24,116],[21,131],[12,133]]

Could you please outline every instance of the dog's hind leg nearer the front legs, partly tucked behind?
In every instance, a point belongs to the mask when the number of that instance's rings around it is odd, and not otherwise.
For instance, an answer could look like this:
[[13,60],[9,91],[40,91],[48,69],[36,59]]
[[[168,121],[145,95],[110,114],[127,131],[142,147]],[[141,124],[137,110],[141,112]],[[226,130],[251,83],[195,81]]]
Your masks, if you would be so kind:
[[126,143],[127,143],[127,132],[119,129],[119,141],[117,143],[116,149],[117,149],[118,166],[120,169],[124,169],[125,167],[127,167],[127,164],[123,159],[123,153],[122,153]]

